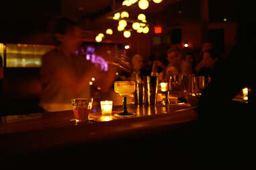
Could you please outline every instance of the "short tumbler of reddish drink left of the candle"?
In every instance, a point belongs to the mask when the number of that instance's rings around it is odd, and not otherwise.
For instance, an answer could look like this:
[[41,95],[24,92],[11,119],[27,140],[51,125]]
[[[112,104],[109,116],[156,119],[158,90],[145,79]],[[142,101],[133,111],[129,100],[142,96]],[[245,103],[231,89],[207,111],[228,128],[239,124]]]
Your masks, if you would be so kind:
[[70,120],[71,122],[75,122],[76,124],[80,122],[93,122],[93,119],[89,118],[93,98],[71,98],[71,102],[75,116],[75,119]]

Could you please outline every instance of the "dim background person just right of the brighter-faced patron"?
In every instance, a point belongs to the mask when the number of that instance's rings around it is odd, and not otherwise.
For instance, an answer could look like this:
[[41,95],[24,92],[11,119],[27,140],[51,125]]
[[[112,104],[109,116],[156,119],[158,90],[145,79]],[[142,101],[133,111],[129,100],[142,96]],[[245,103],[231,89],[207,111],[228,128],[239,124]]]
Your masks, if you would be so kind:
[[195,73],[195,58],[193,53],[187,53],[181,63],[181,74],[189,75]]

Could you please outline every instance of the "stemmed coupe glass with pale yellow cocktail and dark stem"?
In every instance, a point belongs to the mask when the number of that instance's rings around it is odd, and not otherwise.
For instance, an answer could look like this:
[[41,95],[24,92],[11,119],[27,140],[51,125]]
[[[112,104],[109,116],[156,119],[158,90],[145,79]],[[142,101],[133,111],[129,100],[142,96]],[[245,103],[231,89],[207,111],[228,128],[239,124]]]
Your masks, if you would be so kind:
[[116,81],[114,82],[114,90],[118,92],[120,96],[124,97],[124,112],[120,112],[115,114],[115,116],[134,116],[134,113],[130,113],[127,111],[126,106],[126,97],[135,91],[135,82],[134,81]]

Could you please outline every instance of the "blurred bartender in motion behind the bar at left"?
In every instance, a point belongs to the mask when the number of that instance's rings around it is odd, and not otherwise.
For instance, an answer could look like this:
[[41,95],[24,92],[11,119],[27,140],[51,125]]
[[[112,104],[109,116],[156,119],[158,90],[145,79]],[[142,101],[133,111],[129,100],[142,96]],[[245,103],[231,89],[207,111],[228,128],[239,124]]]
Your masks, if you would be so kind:
[[90,97],[89,81],[98,68],[75,55],[81,45],[81,27],[71,19],[56,19],[53,35],[56,48],[42,58],[40,107],[48,112],[71,110],[71,98]]

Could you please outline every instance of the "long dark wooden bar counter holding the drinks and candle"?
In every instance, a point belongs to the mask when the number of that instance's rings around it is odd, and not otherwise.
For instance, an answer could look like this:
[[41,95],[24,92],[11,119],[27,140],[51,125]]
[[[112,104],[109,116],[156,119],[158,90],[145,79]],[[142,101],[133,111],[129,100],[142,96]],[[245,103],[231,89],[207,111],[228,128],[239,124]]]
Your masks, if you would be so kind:
[[132,141],[131,145],[134,145],[139,143],[133,141],[134,137],[140,139],[143,135],[161,134],[167,129],[174,131],[186,126],[187,122],[193,122],[197,118],[194,108],[185,103],[142,108],[131,104],[128,111],[136,113],[136,116],[130,117],[114,116],[116,112],[122,112],[122,106],[114,106],[112,114],[108,116],[101,114],[99,108],[94,108],[90,117],[95,122],[81,124],[70,122],[74,118],[72,110],[2,116],[0,152],[5,157],[17,157],[34,153],[42,155],[54,149],[67,150],[92,143],[93,146],[95,143],[97,146],[106,145],[110,141],[116,141],[119,147],[122,147],[121,141],[126,141],[126,145]]

